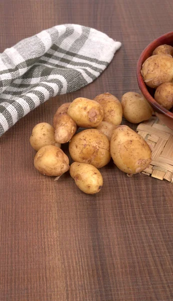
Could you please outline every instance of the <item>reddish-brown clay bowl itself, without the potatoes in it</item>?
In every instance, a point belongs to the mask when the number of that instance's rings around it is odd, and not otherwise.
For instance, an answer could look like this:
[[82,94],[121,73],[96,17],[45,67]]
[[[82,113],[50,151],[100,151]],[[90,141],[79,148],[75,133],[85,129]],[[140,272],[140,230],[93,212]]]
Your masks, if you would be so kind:
[[141,67],[144,61],[152,55],[153,50],[158,47],[159,45],[167,44],[173,46],[173,32],[167,33],[153,42],[151,42],[141,53],[138,62],[137,62],[137,82],[138,86],[146,98],[146,100],[150,103],[155,111],[155,115],[168,127],[173,129],[173,112],[170,112],[163,108],[160,104],[158,104],[153,96],[155,89],[152,89],[145,85],[142,75],[141,75]]

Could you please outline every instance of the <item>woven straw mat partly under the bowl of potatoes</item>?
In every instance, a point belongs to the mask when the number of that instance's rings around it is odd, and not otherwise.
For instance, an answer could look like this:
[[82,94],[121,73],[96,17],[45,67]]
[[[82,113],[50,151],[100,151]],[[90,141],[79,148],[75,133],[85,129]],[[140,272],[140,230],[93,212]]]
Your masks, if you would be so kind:
[[137,132],[152,149],[152,161],[142,173],[173,183],[173,130],[156,116],[140,123]]

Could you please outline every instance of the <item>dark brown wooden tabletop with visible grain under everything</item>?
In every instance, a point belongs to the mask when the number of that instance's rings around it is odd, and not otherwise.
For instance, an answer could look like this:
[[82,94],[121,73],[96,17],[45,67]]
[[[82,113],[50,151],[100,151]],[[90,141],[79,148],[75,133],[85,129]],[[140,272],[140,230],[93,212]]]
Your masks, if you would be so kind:
[[94,83],[50,99],[0,139],[1,301],[173,300],[173,186],[140,174],[129,178],[111,163],[101,169],[101,192],[85,195],[69,174],[58,182],[40,175],[29,143],[33,126],[52,123],[64,102],[138,92],[137,59],[172,31],[172,12],[168,0],[1,0],[1,52],[64,23],[122,42]]

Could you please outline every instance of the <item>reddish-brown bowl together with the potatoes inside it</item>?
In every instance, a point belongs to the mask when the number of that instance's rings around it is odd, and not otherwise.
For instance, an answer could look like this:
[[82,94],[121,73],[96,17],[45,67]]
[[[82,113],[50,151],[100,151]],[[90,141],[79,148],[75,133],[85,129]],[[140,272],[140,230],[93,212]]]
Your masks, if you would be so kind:
[[142,51],[137,81],[156,116],[173,129],[173,32],[157,38]]

